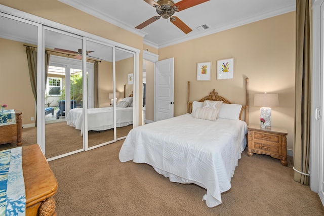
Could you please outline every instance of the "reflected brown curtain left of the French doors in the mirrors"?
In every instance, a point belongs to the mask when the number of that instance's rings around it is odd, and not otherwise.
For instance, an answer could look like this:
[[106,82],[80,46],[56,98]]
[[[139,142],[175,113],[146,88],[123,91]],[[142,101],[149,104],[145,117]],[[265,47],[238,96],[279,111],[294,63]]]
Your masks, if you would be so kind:
[[[26,47],[29,78],[31,84],[31,90],[35,98],[35,103],[37,106],[37,51],[35,48]],[[47,83],[47,74],[50,64],[50,52],[45,51],[45,87]],[[35,126],[37,126],[37,113],[35,116]]]

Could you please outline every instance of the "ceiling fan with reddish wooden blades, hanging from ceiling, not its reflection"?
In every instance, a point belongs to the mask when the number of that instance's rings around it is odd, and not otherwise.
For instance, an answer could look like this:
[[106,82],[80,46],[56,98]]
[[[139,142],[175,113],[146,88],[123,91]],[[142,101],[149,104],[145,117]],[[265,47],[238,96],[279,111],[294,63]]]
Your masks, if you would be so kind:
[[187,8],[199,5],[201,3],[207,2],[210,0],[182,0],[178,3],[174,3],[172,0],[158,0],[157,2],[153,0],[144,0],[144,2],[148,3],[149,5],[156,8],[156,13],[158,16],[154,16],[142,24],[139,24],[135,28],[142,29],[145,26],[151,24],[152,22],[158,20],[160,17],[164,19],[170,18],[170,21],[176,25],[180,30],[182,30],[184,33],[189,33],[192,31],[191,28],[189,28],[184,22],[182,22],[178,17],[173,16],[175,12],[183,11]]

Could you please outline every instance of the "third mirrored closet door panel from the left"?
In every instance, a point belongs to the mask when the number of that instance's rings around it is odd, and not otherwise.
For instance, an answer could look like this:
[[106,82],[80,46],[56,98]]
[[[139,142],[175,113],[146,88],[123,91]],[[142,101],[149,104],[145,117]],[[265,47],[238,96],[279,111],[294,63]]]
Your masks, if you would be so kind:
[[[87,40],[88,148],[114,141],[113,48]],[[89,66],[91,65],[91,66]]]

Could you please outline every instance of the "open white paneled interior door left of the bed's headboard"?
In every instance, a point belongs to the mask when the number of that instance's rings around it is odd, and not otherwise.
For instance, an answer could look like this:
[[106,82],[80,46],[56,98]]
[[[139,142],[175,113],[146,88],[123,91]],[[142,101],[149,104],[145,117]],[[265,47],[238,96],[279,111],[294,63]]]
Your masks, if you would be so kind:
[[155,63],[154,121],[173,117],[174,58]]

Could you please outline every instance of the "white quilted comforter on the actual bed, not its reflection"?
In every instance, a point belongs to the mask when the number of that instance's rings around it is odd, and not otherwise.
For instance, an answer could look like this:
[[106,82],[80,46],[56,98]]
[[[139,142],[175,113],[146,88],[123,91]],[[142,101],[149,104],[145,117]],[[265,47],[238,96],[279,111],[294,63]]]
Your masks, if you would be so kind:
[[241,120],[209,121],[184,114],[133,128],[119,160],[147,163],[172,182],[204,187],[206,204],[214,207],[231,187],[247,132]]

